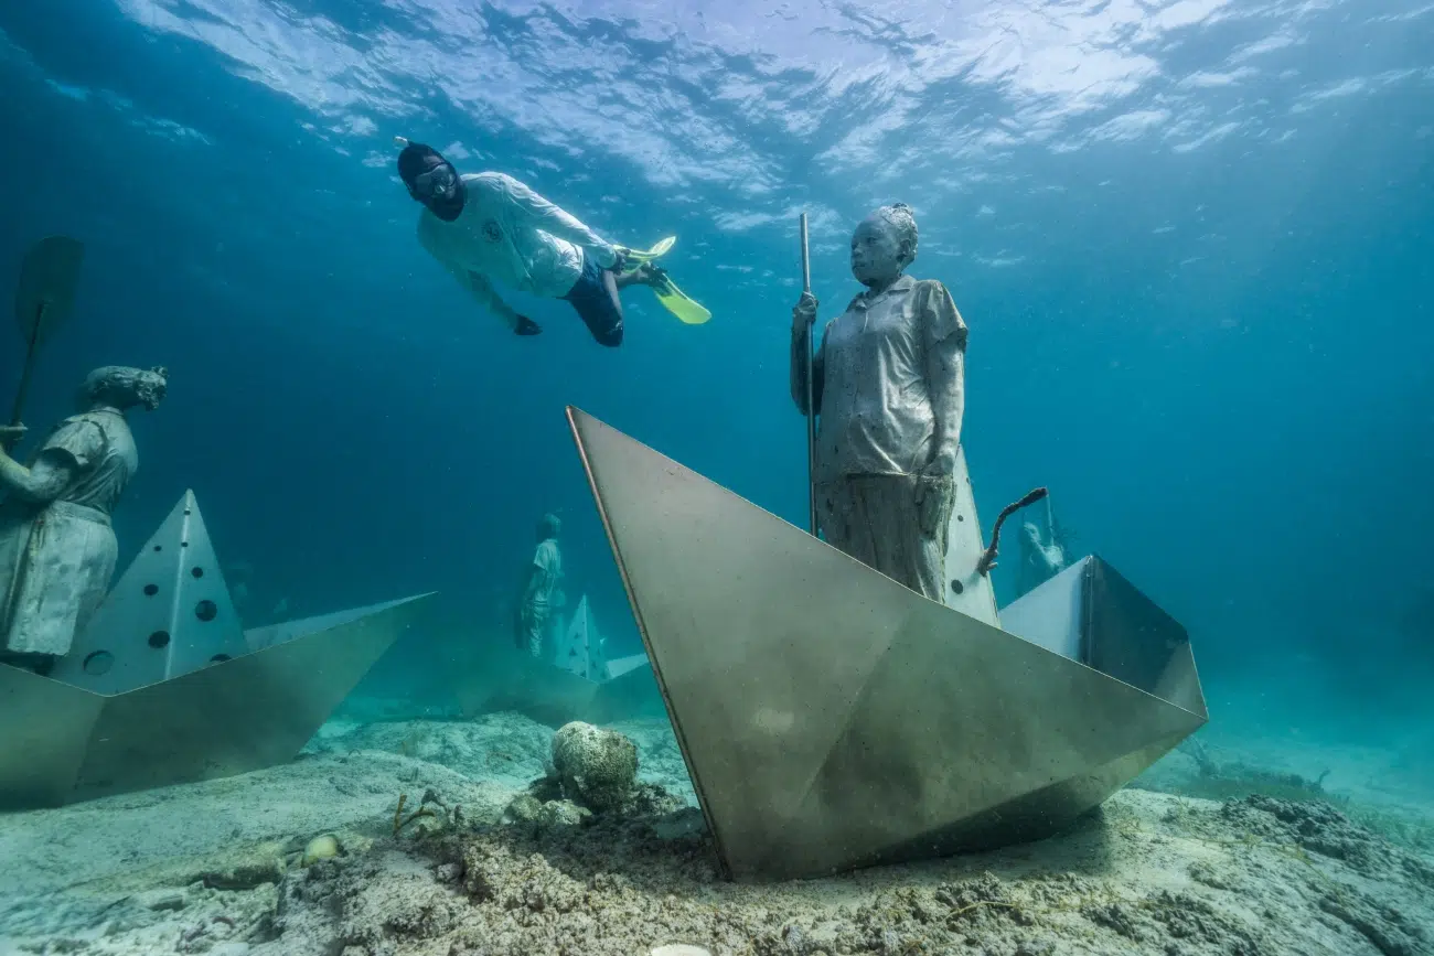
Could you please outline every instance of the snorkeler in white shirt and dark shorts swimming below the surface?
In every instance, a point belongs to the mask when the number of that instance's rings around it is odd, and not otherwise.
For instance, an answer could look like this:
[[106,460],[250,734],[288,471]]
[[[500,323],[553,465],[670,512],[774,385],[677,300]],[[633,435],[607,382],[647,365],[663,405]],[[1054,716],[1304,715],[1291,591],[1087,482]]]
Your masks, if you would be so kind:
[[631,249],[599,238],[506,173],[459,175],[432,146],[407,143],[399,153],[399,176],[424,206],[419,242],[518,335],[536,335],[542,328],[513,311],[495,282],[566,300],[592,338],[615,348],[622,344],[618,292],[630,285],[657,290],[667,281],[651,262],[627,271]]

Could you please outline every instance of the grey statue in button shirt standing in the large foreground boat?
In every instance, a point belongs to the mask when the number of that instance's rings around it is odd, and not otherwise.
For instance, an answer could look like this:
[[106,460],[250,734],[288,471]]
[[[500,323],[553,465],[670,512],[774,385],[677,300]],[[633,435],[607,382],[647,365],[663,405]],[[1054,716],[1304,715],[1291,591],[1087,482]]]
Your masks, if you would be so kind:
[[[852,235],[852,275],[866,291],[826,324],[812,360],[813,482],[827,543],[944,603],[967,325],[945,285],[906,275],[915,258],[905,204],[876,209]],[[803,414],[816,308],[803,292],[792,310],[792,397]]]

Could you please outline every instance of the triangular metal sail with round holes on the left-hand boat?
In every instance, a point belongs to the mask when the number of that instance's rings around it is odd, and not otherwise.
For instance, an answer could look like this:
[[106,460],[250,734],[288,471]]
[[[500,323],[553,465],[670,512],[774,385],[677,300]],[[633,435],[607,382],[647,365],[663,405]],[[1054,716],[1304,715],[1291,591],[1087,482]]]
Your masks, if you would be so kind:
[[50,677],[122,694],[247,651],[209,532],[186,490]]

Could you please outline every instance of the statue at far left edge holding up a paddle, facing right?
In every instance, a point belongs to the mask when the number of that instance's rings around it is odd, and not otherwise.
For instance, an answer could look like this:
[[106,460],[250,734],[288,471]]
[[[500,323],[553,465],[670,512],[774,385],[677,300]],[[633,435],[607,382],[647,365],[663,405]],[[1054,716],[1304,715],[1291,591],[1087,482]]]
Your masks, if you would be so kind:
[[0,659],[49,669],[103,601],[119,556],[110,513],[139,467],[125,413],[158,408],[166,378],[96,368],[85,411],[56,426],[29,467],[3,450],[24,427],[0,429]]

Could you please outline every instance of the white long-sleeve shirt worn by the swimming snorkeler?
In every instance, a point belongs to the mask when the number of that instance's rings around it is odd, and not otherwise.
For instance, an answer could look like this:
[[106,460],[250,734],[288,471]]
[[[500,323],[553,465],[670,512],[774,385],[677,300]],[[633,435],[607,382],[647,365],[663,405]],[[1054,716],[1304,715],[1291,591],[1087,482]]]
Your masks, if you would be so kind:
[[617,262],[611,242],[512,176],[466,173],[463,188],[463,212],[453,222],[429,209],[419,215],[419,242],[509,328],[518,328],[518,312],[495,282],[561,298],[582,274],[585,254],[602,268]]

